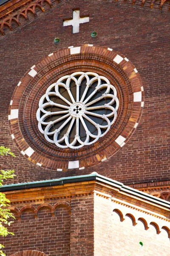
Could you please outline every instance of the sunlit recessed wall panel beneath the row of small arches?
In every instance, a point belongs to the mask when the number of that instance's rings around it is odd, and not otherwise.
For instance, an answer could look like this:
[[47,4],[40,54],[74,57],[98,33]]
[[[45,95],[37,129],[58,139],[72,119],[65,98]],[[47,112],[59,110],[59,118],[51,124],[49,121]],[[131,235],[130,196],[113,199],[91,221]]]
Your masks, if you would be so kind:
[[[155,227],[151,225],[148,230],[144,230],[142,222],[139,221],[136,226],[133,226],[129,217],[121,222],[117,213],[113,215],[112,227],[114,256],[170,255],[170,239],[165,230],[156,234]],[[143,243],[143,247],[139,242]]]

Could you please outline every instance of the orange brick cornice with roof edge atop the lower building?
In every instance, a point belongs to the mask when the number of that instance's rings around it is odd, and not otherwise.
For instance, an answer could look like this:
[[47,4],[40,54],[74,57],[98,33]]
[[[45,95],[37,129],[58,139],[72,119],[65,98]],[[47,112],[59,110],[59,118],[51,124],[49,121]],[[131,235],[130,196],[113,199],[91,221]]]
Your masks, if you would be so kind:
[[[90,178],[90,179],[89,179]],[[1,189],[6,193],[6,197],[11,201],[12,207],[23,207],[24,205],[50,204],[56,201],[70,202],[75,198],[99,196],[116,204],[124,205],[133,209],[139,209],[139,212],[149,212],[158,218],[169,220],[170,203],[160,198],[131,189],[115,180],[108,179],[102,175],[92,173],[91,175],[72,176],[58,179],[60,183],[37,186],[37,183],[28,183],[29,187],[15,188],[11,190],[12,185],[5,185]],[[57,180],[56,180],[57,181]],[[11,191],[10,191],[11,190]],[[13,208],[14,209],[14,208]],[[160,215],[160,211],[162,214]]]

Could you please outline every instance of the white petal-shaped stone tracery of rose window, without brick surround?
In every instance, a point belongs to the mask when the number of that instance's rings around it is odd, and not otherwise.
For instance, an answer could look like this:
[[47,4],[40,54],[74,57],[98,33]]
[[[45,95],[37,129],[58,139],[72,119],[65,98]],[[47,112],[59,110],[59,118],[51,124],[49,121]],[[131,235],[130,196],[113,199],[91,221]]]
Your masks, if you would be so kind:
[[81,148],[104,136],[116,120],[116,88],[94,72],[62,76],[48,87],[37,110],[38,128],[60,148]]

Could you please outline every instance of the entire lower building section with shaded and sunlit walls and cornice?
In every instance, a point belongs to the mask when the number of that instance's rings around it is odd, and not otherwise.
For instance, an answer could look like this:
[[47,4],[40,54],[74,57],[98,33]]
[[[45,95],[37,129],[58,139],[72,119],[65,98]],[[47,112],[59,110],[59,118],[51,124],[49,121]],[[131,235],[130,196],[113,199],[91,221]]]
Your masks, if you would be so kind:
[[92,175],[7,191],[16,220],[0,241],[6,256],[169,256],[170,204]]

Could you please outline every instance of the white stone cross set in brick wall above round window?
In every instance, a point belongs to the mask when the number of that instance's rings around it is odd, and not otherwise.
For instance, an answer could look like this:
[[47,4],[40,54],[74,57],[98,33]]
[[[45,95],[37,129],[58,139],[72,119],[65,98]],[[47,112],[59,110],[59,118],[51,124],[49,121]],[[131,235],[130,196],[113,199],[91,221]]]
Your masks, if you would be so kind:
[[89,17],[79,16],[79,10],[73,11],[73,19],[63,21],[63,26],[73,26],[73,34],[79,33],[79,24],[89,22]]

